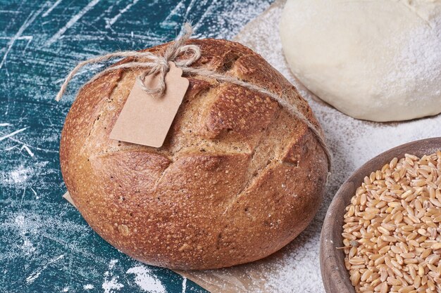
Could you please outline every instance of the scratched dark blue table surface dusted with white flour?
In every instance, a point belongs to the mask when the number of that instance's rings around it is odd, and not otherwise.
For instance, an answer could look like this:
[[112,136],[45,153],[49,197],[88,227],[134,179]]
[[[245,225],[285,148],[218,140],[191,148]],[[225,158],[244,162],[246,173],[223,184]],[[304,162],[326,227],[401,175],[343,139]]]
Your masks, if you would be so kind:
[[[271,0],[0,0],[0,292],[204,292],[108,245],[61,198],[58,145],[79,60],[197,37],[231,38]],[[93,67],[99,70],[99,66]]]

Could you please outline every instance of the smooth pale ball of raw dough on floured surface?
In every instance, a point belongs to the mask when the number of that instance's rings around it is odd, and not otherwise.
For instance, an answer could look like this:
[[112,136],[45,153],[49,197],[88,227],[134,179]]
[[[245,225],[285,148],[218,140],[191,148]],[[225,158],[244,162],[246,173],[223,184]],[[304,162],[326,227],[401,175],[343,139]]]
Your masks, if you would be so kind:
[[441,112],[441,0],[288,0],[280,37],[300,82],[347,115]]

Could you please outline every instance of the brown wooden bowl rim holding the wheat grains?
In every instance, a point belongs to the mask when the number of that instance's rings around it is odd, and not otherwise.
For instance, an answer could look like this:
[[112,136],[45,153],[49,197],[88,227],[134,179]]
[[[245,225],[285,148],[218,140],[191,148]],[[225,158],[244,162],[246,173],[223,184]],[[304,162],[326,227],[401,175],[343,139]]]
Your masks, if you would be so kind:
[[329,206],[321,230],[320,267],[327,293],[355,293],[349,273],[344,267],[344,252],[335,247],[343,246],[342,226],[345,208],[355,195],[356,188],[363,183],[364,177],[381,169],[394,157],[400,159],[406,153],[421,157],[433,154],[437,150],[441,150],[441,137],[399,145],[366,162],[343,183]]

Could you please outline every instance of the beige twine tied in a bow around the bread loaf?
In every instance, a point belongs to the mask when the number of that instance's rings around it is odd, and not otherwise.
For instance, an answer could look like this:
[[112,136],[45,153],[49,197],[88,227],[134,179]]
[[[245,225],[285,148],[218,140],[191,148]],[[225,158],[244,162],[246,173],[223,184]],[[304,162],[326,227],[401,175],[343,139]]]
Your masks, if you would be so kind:
[[[277,101],[279,105],[281,105],[283,108],[286,108],[294,117],[297,117],[297,119],[306,124],[306,126],[308,126],[308,128],[313,132],[314,136],[316,136],[318,142],[321,144],[326,157],[328,158],[328,169],[330,170],[332,155],[330,153],[328,145],[326,145],[325,143],[325,138],[323,137],[323,134],[321,134],[321,131],[318,130],[318,127],[316,125],[314,125],[307,117],[304,116],[299,108],[297,108],[297,105],[288,102],[287,98],[284,98],[283,95],[273,93],[272,91],[269,91],[268,89],[265,89],[256,84],[244,82],[237,77],[221,74],[212,70],[206,70],[204,68],[190,67],[190,65],[199,60],[199,58],[201,57],[201,49],[199,48],[199,46],[194,44],[185,45],[185,42],[192,36],[192,32],[192,26],[188,22],[185,23],[184,34],[182,34],[182,37],[179,37],[173,43],[168,45],[162,56],[156,55],[151,52],[122,51],[108,53],[103,56],[82,61],[81,63],[78,63],[78,65],[75,66],[75,68],[68,74],[55,99],[57,101],[61,100],[61,97],[66,92],[70,80],[75,77],[75,74],[77,74],[77,72],[79,72],[82,67],[85,67],[89,64],[103,63],[104,61],[111,60],[113,58],[132,58],[132,60],[127,63],[113,65],[102,70],[94,77],[92,77],[92,79],[90,79],[87,84],[93,82],[96,79],[99,79],[99,77],[102,77],[104,74],[111,71],[128,68],[146,68],[147,70],[142,72],[142,74],[137,77],[136,82],[139,84],[139,86],[141,86],[143,91],[149,93],[154,98],[160,98],[166,91],[165,79],[166,74],[169,70],[168,62],[172,61],[173,63],[175,63],[176,67],[179,67],[184,73],[209,77],[212,79],[216,79],[218,82],[228,82],[231,84],[236,84],[237,86],[242,86],[246,89],[250,89],[251,91],[257,91],[273,98],[273,100]],[[187,56],[189,57],[180,58],[178,60],[178,57],[182,56],[182,54],[184,53],[189,53],[187,54]],[[147,61],[137,61],[137,59],[147,59]],[[145,77],[151,74],[159,74],[159,84],[156,88],[148,88],[144,85]]]

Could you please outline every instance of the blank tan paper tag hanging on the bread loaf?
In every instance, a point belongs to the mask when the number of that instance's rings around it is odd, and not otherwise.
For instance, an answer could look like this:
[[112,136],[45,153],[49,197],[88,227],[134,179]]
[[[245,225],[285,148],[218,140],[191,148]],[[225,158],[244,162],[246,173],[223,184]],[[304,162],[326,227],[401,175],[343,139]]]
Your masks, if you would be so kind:
[[[182,77],[182,70],[175,63],[169,62],[168,65],[166,93],[161,97],[151,96],[135,82],[110,138],[154,148],[163,145],[190,84],[188,79]],[[149,75],[144,84],[155,87],[158,81],[158,75]]]

